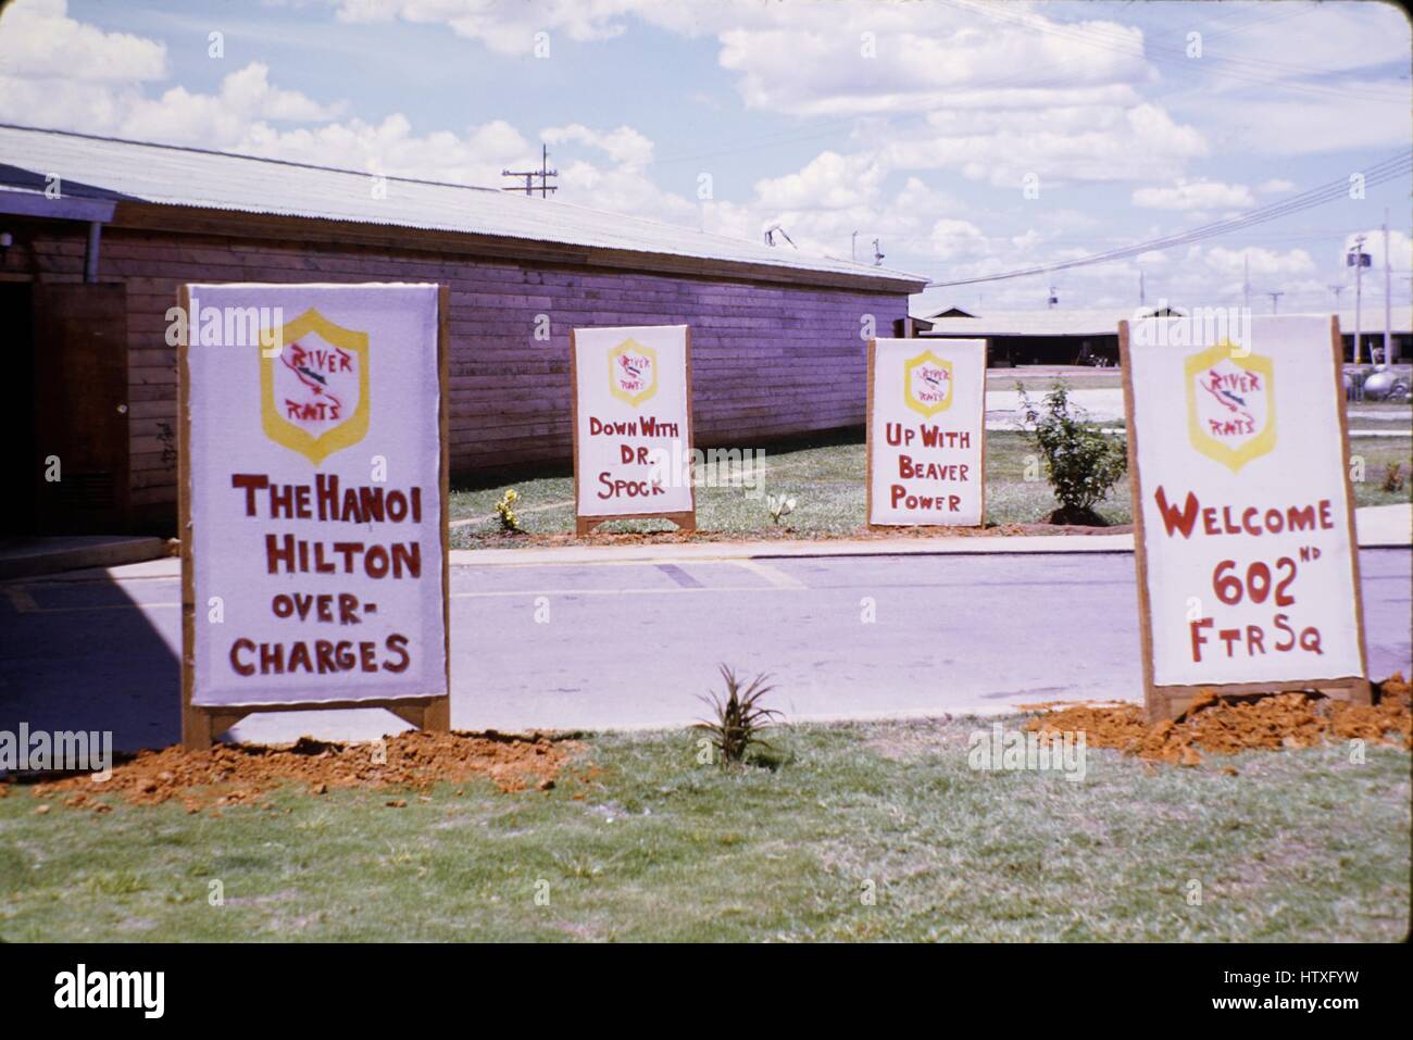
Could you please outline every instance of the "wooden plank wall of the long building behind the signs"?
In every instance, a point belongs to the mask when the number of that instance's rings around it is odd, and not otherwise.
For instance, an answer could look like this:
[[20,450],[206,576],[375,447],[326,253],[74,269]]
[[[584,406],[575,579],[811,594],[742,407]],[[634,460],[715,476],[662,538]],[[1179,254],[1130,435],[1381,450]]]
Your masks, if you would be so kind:
[[[0,277],[79,281],[81,225],[16,235]],[[456,475],[569,462],[569,329],[692,326],[697,439],[762,439],[863,422],[863,315],[892,335],[901,292],[725,281],[379,247],[274,244],[107,228],[99,281],[129,294],[133,507],[170,520],[175,350],[167,308],[187,281],[437,281],[451,287],[451,458]],[[534,339],[550,317],[550,342]]]

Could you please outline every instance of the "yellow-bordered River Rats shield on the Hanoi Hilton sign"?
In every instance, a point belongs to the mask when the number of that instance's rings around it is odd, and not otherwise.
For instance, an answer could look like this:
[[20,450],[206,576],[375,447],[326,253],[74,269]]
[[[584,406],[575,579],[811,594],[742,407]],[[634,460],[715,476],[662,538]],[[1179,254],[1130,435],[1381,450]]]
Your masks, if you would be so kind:
[[[260,425],[319,465],[367,435],[367,333],[308,309],[276,342],[261,335]],[[276,353],[274,346],[280,350]]]

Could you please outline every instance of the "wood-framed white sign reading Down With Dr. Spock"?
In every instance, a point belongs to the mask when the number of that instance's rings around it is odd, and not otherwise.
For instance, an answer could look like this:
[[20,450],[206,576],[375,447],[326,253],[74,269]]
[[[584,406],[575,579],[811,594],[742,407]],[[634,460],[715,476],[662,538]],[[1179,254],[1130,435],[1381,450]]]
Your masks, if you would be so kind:
[[575,534],[653,517],[697,530],[691,329],[572,329],[569,379]]

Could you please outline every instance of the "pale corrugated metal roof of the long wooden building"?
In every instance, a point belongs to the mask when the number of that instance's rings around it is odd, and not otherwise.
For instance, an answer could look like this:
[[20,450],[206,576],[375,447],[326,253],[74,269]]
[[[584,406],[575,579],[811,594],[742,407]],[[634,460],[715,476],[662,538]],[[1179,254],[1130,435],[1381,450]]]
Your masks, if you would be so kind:
[[913,281],[926,276],[810,256],[623,213],[493,188],[389,177],[374,199],[370,174],[199,148],[122,141],[0,124],[0,184],[34,187],[57,174],[73,195],[394,228],[489,235],[588,249],[632,250],[725,263]]

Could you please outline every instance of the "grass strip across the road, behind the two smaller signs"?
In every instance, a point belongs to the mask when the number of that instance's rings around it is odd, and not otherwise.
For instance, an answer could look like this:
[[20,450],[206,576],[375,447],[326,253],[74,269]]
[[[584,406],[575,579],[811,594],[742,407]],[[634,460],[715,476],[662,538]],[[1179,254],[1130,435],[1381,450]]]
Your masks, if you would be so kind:
[[[1390,462],[1403,463],[1405,476],[1413,469],[1413,437],[1354,438],[1351,454],[1364,458],[1365,479],[1355,485],[1359,506],[1382,506],[1409,502],[1413,482],[1402,492],[1382,490],[1383,473]],[[1036,448],[1020,432],[992,431],[986,434],[986,520],[989,524],[1039,523],[1058,503],[1050,485],[1027,480],[1027,469]],[[763,492],[750,497],[742,488],[698,488],[697,527],[702,533],[755,538],[786,537],[844,537],[865,526],[866,454],[862,435],[848,442],[818,447],[793,445],[784,451],[766,451]],[[490,488],[454,490],[452,520],[472,520],[452,528],[452,548],[482,545],[528,545],[530,538],[503,538],[495,516],[496,500],[507,488],[520,493],[517,512],[521,526],[534,534],[567,536],[574,531],[574,479],[568,475],[540,476]],[[764,495],[787,495],[796,499],[796,512],[776,527],[766,510]],[[1098,513],[1111,524],[1130,523],[1129,485],[1125,478],[1099,503]],[[674,530],[666,520],[620,520],[603,524],[601,531],[666,531]]]

